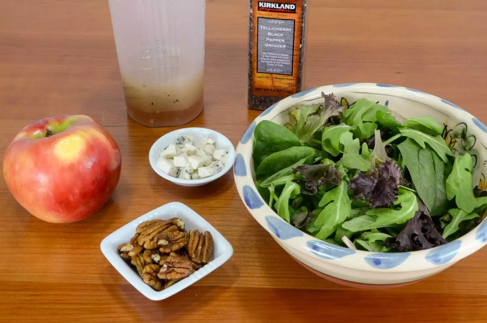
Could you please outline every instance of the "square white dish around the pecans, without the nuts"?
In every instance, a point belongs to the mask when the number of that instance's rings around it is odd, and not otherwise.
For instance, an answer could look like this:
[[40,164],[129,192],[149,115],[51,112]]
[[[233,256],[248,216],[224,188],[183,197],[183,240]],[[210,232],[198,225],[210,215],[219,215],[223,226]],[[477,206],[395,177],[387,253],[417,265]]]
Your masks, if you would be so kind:
[[[175,283],[174,285],[155,291],[149,285],[144,283],[137,272],[125,262],[117,252],[117,247],[128,242],[135,234],[137,225],[144,221],[152,219],[168,220],[177,217],[185,222],[186,231],[200,230],[209,231],[213,236],[213,260],[205,266],[195,271],[193,274]],[[195,283],[224,264],[233,254],[233,248],[230,243],[218,232],[210,223],[203,219],[199,214],[180,202],[171,202],[160,206],[149,213],[133,220],[116,230],[108,237],[103,239],[100,244],[101,252],[112,264],[113,267],[122,275],[133,287],[141,292],[145,297],[152,301],[160,301],[176,294],[185,289],[187,286]]]

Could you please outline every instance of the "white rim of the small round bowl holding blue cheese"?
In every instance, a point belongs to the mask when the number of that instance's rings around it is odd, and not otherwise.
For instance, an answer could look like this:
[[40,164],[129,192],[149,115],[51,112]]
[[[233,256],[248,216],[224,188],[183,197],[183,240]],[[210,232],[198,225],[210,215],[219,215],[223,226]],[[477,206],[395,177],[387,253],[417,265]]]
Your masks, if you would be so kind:
[[[228,149],[228,157],[226,159],[225,166],[223,167],[223,169],[220,172],[216,173],[215,175],[212,175],[212,176],[209,176],[209,177],[206,177],[203,179],[199,179],[199,180],[183,180],[183,179],[178,179],[176,177],[169,176],[168,174],[164,173],[162,170],[160,170],[157,167],[156,163],[157,163],[157,160],[159,159],[159,157],[154,155],[155,150],[158,147],[160,147],[162,145],[162,143],[168,139],[168,137],[172,137],[172,136],[176,136],[176,135],[183,135],[187,131],[209,132],[213,136],[218,137],[217,142],[218,141],[224,141],[224,145],[225,146],[228,145],[228,147],[230,147]],[[150,147],[150,150],[149,150],[149,163],[150,163],[150,167],[152,167],[154,172],[156,172],[159,176],[161,176],[165,180],[168,180],[169,182],[173,182],[175,184],[185,185],[185,186],[198,186],[198,185],[206,184],[206,183],[213,182],[213,181],[219,179],[220,177],[224,176],[230,170],[230,168],[232,168],[234,160],[235,160],[235,147],[233,146],[233,143],[228,138],[226,138],[225,135],[219,133],[218,131],[208,129],[208,128],[202,128],[202,127],[181,128],[181,129],[177,129],[177,130],[168,132],[167,134],[159,137],[159,139],[154,141],[154,143],[152,144],[152,146]]]

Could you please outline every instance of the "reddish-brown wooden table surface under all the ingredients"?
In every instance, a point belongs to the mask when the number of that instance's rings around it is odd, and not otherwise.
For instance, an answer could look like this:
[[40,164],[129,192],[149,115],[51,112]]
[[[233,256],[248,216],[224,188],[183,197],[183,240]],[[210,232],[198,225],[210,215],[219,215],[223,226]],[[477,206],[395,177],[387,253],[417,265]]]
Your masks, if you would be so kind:
[[[207,0],[203,113],[188,126],[235,145],[259,114],[246,108],[247,1]],[[108,1],[0,0],[0,153],[25,125],[88,114],[120,146],[122,176],[89,219],[50,224],[0,181],[0,321],[4,322],[486,322],[487,249],[411,286],[357,290],[289,257],[246,211],[233,175],[184,188],[157,176],[146,128],[124,110]],[[223,14],[227,12],[227,16]],[[307,87],[373,81],[418,88],[487,122],[487,2],[310,1]],[[218,270],[152,302],[103,257],[109,233],[171,201],[187,203],[233,245]]]

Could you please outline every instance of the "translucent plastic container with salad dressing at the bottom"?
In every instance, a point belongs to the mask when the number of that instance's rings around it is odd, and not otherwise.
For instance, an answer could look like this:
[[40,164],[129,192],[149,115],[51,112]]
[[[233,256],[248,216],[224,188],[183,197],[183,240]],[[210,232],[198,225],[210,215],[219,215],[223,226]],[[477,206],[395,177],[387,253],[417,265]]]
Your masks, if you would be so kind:
[[127,113],[181,125],[203,109],[205,0],[109,0]]

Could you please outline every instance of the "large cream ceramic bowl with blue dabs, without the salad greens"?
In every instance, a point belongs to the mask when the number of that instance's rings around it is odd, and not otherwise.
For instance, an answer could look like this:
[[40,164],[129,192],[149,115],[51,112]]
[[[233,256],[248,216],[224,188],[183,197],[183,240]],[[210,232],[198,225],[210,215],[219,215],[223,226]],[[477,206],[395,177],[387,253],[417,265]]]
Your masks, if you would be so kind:
[[255,185],[252,157],[254,129],[264,120],[281,125],[289,123],[289,108],[300,102],[322,100],[321,92],[334,93],[337,99],[344,98],[348,102],[358,99],[376,101],[403,118],[431,116],[445,126],[447,135],[444,139],[455,154],[468,153],[472,156],[473,185],[482,190],[487,187],[487,127],[459,106],[428,93],[388,84],[347,83],[306,90],[274,104],[251,122],[237,146],[234,164],[235,182],[242,201],[255,220],[286,252],[323,277],[331,276],[338,282],[384,285],[409,283],[431,276],[486,244],[486,220],[459,239],[438,247],[382,253],[355,250],[319,240],[281,219],[263,201]]

